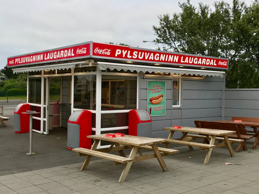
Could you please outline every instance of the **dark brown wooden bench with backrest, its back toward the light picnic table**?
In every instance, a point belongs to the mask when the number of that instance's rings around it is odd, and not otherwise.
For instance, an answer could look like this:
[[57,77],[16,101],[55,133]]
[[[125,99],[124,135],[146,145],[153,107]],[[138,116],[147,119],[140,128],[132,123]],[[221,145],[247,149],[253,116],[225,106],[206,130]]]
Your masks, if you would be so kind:
[[[194,124],[196,125],[196,127],[199,127],[199,128],[236,131],[236,133],[228,135],[228,137],[231,139],[244,140],[242,142],[239,142],[236,152],[240,152],[242,148],[243,148],[243,150],[247,150],[247,145],[245,143],[246,140],[252,139],[254,137],[253,135],[247,135],[246,126],[242,123],[226,123],[226,122],[195,120]],[[200,134],[200,135],[202,135],[202,134]],[[206,141],[208,141],[208,140],[204,139],[203,142],[206,142]]]

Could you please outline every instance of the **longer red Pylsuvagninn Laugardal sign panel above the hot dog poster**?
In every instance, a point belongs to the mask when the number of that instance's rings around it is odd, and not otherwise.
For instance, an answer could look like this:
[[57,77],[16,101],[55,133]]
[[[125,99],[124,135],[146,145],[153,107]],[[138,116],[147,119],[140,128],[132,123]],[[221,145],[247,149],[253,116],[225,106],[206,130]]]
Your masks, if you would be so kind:
[[128,61],[155,62],[183,66],[204,66],[208,68],[228,69],[228,59],[188,55],[165,51],[133,49],[130,47],[93,42],[93,57],[125,59]]

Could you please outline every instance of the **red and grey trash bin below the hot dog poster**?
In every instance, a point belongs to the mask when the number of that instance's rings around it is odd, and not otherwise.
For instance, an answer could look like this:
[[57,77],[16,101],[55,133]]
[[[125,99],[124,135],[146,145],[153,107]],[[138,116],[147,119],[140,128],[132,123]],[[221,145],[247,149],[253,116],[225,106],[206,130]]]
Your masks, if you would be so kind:
[[152,119],[146,110],[128,112],[128,135],[152,137]]

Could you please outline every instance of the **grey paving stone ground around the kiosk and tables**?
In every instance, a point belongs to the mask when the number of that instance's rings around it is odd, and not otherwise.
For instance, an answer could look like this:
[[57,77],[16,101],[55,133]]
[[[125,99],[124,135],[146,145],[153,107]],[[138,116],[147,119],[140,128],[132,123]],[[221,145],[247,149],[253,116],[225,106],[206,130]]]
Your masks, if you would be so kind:
[[[9,110],[10,109],[10,110]],[[253,141],[248,150],[231,157],[226,147],[215,148],[208,164],[206,151],[172,144],[180,153],[164,156],[168,171],[156,159],[134,162],[126,181],[118,183],[123,165],[94,157],[81,171],[85,157],[67,149],[66,129],[51,130],[50,135],[33,132],[33,152],[29,134],[16,134],[13,110],[4,109],[7,127],[0,126],[0,193],[184,193],[255,194],[259,193],[259,151]],[[238,144],[232,144],[235,150]],[[258,148],[259,149],[259,148]],[[225,162],[232,164],[226,165]]]

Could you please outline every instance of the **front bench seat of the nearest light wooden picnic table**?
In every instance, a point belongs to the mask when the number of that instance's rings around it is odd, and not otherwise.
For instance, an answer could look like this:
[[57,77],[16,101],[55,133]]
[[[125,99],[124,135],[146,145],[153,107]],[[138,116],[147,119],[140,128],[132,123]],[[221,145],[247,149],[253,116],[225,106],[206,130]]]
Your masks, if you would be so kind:
[[132,162],[133,159],[130,158],[126,158],[123,156],[117,156],[114,154],[109,154],[109,153],[105,153],[105,152],[99,152],[97,150],[92,150],[92,149],[86,149],[86,148],[74,148],[72,149],[72,151],[77,152],[79,156],[83,156],[82,154],[87,154],[87,155],[91,155],[91,156],[96,156],[96,157],[100,157],[100,158],[104,158],[104,159],[109,159],[115,162],[119,162],[119,163],[127,163],[127,162]]

